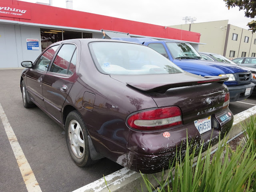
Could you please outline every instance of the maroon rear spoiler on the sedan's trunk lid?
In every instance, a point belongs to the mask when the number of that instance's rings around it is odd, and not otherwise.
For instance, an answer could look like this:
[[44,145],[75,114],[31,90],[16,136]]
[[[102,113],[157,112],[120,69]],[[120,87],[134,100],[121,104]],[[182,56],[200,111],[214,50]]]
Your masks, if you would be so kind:
[[192,86],[192,85],[201,85],[207,83],[215,83],[218,82],[223,84],[228,77],[220,77],[220,76],[204,76],[205,79],[200,80],[193,80],[193,81],[183,81],[183,82],[161,82],[161,83],[132,83],[126,82],[129,86],[132,86],[136,89],[146,91],[146,92],[158,92],[158,93],[165,93],[170,88],[176,87],[185,87],[185,86]]

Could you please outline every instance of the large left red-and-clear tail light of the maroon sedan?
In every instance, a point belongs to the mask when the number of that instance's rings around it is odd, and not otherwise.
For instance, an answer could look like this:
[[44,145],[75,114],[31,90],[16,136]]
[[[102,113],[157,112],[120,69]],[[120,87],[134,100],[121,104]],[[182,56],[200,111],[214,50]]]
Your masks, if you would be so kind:
[[180,108],[171,106],[132,114],[127,123],[131,128],[150,131],[180,125],[182,124],[182,117]]

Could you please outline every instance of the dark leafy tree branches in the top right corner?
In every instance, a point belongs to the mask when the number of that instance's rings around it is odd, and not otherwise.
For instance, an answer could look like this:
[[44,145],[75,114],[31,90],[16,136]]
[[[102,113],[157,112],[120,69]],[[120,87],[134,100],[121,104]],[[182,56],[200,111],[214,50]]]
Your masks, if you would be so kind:
[[[233,7],[238,7],[239,10],[245,10],[244,14],[248,18],[255,18],[256,16],[256,0],[224,0],[228,10]],[[247,24],[249,30],[256,32],[256,21],[252,20]]]

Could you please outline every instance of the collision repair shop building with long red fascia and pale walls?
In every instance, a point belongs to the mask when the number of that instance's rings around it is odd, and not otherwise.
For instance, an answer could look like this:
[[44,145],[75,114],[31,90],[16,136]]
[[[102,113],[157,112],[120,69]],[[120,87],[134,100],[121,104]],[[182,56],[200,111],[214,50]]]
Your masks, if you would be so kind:
[[[0,0],[0,68],[34,62],[50,44],[72,38],[102,38],[100,29],[131,37],[190,42],[196,49],[200,34],[110,16],[17,0]],[[116,36],[119,37],[119,36]]]

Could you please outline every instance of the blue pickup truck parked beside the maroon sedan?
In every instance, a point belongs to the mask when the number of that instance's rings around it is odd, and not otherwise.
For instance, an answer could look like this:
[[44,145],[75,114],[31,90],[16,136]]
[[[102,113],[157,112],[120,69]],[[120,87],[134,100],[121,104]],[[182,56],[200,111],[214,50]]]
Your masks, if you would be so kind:
[[148,46],[174,62],[183,70],[200,76],[226,76],[224,82],[230,92],[230,102],[240,101],[252,94],[254,84],[250,70],[228,63],[202,60],[198,52],[188,43],[181,41],[160,41],[152,38],[112,38],[136,42]]

